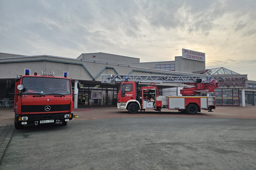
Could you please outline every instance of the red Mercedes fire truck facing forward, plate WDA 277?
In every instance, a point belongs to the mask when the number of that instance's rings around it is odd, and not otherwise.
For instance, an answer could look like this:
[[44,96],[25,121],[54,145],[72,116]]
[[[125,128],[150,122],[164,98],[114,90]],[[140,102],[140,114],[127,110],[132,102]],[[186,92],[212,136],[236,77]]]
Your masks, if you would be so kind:
[[[11,88],[8,80],[6,88]],[[25,124],[59,123],[67,125],[73,118],[71,79],[68,72],[62,76],[52,73],[30,75],[30,69],[18,74],[15,80],[14,109],[16,129]]]

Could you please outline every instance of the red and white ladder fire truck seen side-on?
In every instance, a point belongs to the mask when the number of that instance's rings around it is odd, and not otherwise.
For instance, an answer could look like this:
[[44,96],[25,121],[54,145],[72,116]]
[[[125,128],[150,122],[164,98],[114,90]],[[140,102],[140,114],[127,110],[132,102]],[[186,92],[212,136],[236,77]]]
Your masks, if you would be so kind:
[[[121,82],[117,98],[117,108],[127,109],[129,113],[138,110],[176,109],[188,114],[196,114],[202,110],[212,112],[215,109],[215,96],[212,94],[219,87],[212,76],[145,76],[145,75],[102,75],[102,83],[115,84]],[[150,83],[139,87],[138,83]],[[183,83],[192,87],[180,90],[182,96],[159,96],[155,83]],[[208,94],[208,95],[207,95]]]

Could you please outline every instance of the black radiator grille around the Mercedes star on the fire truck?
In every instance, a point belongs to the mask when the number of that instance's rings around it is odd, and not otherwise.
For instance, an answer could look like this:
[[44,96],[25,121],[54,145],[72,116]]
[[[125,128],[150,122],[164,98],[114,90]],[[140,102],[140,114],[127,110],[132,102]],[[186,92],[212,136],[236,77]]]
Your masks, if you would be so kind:
[[[50,106],[50,110],[46,111],[46,106]],[[49,107],[47,107],[49,108]],[[22,105],[21,112],[60,112],[70,110],[70,105]]]

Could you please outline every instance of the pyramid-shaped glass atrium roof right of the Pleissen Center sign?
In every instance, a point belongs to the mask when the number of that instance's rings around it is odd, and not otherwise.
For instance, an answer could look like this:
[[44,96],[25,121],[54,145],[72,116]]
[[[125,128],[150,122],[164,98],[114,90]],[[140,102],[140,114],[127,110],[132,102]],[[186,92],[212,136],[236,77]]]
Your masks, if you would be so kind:
[[204,74],[204,75],[233,75],[233,74],[239,74],[234,71],[231,71],[229,69],[226,69],[224,67],[219,68],[212,68],[212,69],[205,69],[203,71],[195,71],[193,72],[195,74]]

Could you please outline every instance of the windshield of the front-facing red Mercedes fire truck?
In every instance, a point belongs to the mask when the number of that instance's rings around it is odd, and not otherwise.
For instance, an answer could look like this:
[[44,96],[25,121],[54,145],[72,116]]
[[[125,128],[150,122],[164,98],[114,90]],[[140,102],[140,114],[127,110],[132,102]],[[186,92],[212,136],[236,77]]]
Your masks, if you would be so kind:
[[26,91],[23,94],[71,94],[69,79],[56,77],[23,77],[22,85],[26,87]]

